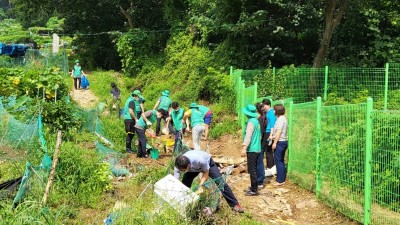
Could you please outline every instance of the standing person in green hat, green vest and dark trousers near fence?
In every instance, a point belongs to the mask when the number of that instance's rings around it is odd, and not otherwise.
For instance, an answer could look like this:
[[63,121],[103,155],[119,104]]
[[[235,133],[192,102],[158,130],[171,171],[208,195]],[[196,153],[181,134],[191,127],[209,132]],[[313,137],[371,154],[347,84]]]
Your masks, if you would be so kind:
[[241,156],[245,157],[247,155],[247,171],[250,174],[251,183],[245,194],[246,196],[258,195],[257,159],[261,153],[261,128],[256,110],[256,107],[251,104],[242,109],[248,121],[244,132]]

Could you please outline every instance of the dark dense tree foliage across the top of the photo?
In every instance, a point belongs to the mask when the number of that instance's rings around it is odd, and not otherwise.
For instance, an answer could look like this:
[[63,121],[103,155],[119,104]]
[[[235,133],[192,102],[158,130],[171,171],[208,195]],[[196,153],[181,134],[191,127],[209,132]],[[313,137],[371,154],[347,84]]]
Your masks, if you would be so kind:
[[[177,31],[185,31],[213,56],[218,56],[214,58],[218,68],[226,70],[230,65],[262,68],[268,60],[278,67],[311,65],[324,32],[325,11],[332,6],[328,3],[335,2],[339,7],[346,1],[11,2],[13,7],[4,6],[3,14],[17,18],[25,27],[46,23],[50,26],[51,17],[65,18],[64,31],[77,34],[77,52],[86,51],[82,56],[94,68],[119,69],[117,37],[111,31],[124,34],[132,30],[136,32],[128,36],[137,44],[132,46],[136,48],[134,51],[144,50],[142,59],[135,56],[138,62],[148,57],[162,57],[149,46],[159,43],[156,47],[163,49],[166,39],[173,38]],[[368,66],[398,58],[398,4],[389,0],[351,1],[344,9],[340,23],[329,37],[327,63]],[[143,32],[152,37],[143,39]],[[103,58],[96,58],[96,53]],[[123,66],[129,61],[122,60]]]

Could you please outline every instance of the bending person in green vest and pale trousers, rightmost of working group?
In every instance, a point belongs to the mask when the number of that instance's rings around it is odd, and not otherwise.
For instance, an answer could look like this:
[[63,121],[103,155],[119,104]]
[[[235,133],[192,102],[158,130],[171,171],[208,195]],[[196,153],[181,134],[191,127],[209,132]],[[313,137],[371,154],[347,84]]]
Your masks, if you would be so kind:
[[[192,127],[192,140],[194,150],[200,150],[200,138],[205,131],[204,114],[199,110],[197,103],[193,102],[185,112],[183,120],[186,121],[186,131],[190,132]],[[190,126],[188,118],[190,118]]]

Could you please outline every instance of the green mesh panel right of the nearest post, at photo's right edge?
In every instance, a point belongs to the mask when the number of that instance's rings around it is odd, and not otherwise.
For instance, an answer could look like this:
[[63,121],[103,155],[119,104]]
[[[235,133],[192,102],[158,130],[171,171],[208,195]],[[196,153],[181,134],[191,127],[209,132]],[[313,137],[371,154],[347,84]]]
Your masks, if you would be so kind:
[[400,221],[400,111],[374,111],[372,223]]

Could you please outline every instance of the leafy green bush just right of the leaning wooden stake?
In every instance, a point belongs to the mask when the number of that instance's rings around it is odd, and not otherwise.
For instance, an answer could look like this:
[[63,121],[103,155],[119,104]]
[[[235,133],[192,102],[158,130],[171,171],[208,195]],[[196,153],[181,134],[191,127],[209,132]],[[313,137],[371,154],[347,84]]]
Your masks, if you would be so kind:
[[100,161],[94,148],[65,142],[60,150],[53,202],[95,207],[102,193],[112,189],[110,175],[109,165]]

